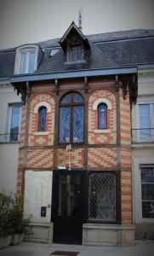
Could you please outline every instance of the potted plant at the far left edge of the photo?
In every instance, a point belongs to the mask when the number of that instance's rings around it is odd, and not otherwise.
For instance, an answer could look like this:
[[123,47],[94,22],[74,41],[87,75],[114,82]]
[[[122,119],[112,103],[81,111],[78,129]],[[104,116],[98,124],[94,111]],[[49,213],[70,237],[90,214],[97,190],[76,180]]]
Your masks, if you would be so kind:
[[11,241],[10,212],[14,206],[11,195],[0,192],[0,248],[7,247]]

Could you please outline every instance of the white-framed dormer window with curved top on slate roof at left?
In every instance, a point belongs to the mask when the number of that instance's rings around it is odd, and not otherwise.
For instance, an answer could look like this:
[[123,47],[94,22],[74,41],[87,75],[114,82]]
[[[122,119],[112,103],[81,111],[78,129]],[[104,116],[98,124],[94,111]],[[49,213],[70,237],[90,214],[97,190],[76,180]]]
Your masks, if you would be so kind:
[[24,45],[16,49],[14,74],[33,73],[37,69],[39,47]]

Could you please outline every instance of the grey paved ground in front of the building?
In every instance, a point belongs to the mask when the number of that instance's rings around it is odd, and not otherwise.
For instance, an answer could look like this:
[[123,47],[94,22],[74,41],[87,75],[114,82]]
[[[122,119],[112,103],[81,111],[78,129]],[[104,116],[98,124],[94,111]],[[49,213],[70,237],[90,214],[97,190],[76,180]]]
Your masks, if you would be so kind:
[[154,256],[154,241],[136,241],[133,247],[90,247],[22,242],[0,250],[0,256],[49,256],[54,251],[79,252],[77,256]]

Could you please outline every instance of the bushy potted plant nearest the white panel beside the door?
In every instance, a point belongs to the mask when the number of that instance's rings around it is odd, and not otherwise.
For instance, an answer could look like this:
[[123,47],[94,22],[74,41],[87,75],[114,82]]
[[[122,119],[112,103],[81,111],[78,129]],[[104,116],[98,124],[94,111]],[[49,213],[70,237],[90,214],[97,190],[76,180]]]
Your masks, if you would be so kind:
[[10,212],[9,222],[11,224],[11,245],[20,244],[24,235],[31,232],[31,215],[23,217],[23,200],[14,196],[14,207]]

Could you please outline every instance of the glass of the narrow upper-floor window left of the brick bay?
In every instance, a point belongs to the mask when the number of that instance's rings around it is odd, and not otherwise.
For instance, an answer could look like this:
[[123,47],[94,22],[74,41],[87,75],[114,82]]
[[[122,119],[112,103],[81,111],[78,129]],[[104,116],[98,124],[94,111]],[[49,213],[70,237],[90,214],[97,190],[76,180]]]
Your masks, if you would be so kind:
[[10,141],[18,141],[20,126],[20,106],[12,107]]

